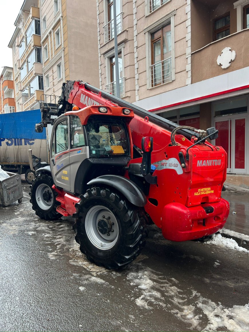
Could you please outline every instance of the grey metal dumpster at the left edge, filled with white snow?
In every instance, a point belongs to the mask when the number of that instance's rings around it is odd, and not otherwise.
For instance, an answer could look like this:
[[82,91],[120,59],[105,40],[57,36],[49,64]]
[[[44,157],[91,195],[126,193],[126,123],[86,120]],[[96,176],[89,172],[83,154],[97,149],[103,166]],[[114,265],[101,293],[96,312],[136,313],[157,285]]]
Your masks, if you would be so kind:
[[18,201],[22,203],[23,189],[19,174],[6,172],[10,177],[0,181],[0,206],[7,207]]

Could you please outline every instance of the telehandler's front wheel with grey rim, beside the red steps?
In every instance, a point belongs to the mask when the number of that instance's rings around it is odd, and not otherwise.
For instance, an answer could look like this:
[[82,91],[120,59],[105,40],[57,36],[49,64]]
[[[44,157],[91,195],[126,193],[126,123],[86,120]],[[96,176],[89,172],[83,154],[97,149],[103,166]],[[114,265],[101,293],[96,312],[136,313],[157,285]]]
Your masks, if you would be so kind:
[[52,189],[53,179],[47,174],[39,174],[30,186],[30,203],[41,219],[55,220],[61,217],[56,211],[59,202],[55,200],[56,192]]

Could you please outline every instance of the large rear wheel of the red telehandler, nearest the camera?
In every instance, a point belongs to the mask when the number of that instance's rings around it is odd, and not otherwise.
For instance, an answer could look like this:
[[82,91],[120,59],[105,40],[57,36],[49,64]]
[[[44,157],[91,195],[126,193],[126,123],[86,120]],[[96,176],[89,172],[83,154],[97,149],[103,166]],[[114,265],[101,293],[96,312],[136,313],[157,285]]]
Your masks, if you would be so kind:
[[143,210],[112,189],[92,188],[80,198],[75,240],[87,259],[107,269],[132,262],[145,245]]

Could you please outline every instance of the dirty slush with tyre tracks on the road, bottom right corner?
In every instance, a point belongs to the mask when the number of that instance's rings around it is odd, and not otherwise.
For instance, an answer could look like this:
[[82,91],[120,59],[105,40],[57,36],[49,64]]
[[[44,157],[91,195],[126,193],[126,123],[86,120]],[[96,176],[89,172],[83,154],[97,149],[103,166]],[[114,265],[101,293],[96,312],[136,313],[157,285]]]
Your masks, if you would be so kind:
[[[215,262],[218,265],[218,262]],[[152,310],[155,305],[162,306],[182,321],[191,324],[190,329],[202,331],[249,331],[249,304],[224,307],[204,298],[191,289],[192,295],[180,289],[174,278],[165,278],[141,264],[133,264],[127,274],[130,285],[142,292],[135,303],[142,308]],[[173,283],[177,284],[177,287]],[[171,304],[169,304],[171,302]],[[205,324],[208,321],[208,324]]]

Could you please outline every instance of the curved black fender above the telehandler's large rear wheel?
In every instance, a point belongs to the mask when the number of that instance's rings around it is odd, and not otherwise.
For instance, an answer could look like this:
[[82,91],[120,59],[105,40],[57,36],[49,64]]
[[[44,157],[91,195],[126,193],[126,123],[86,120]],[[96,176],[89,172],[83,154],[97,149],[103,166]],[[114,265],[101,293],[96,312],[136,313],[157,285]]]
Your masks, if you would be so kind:
[[137,207],[144,207],[146,197],[141,189],[131,180],[120,175],[102,175],[87,183],[88,185],[104,185],[118,190],[124,197]]

